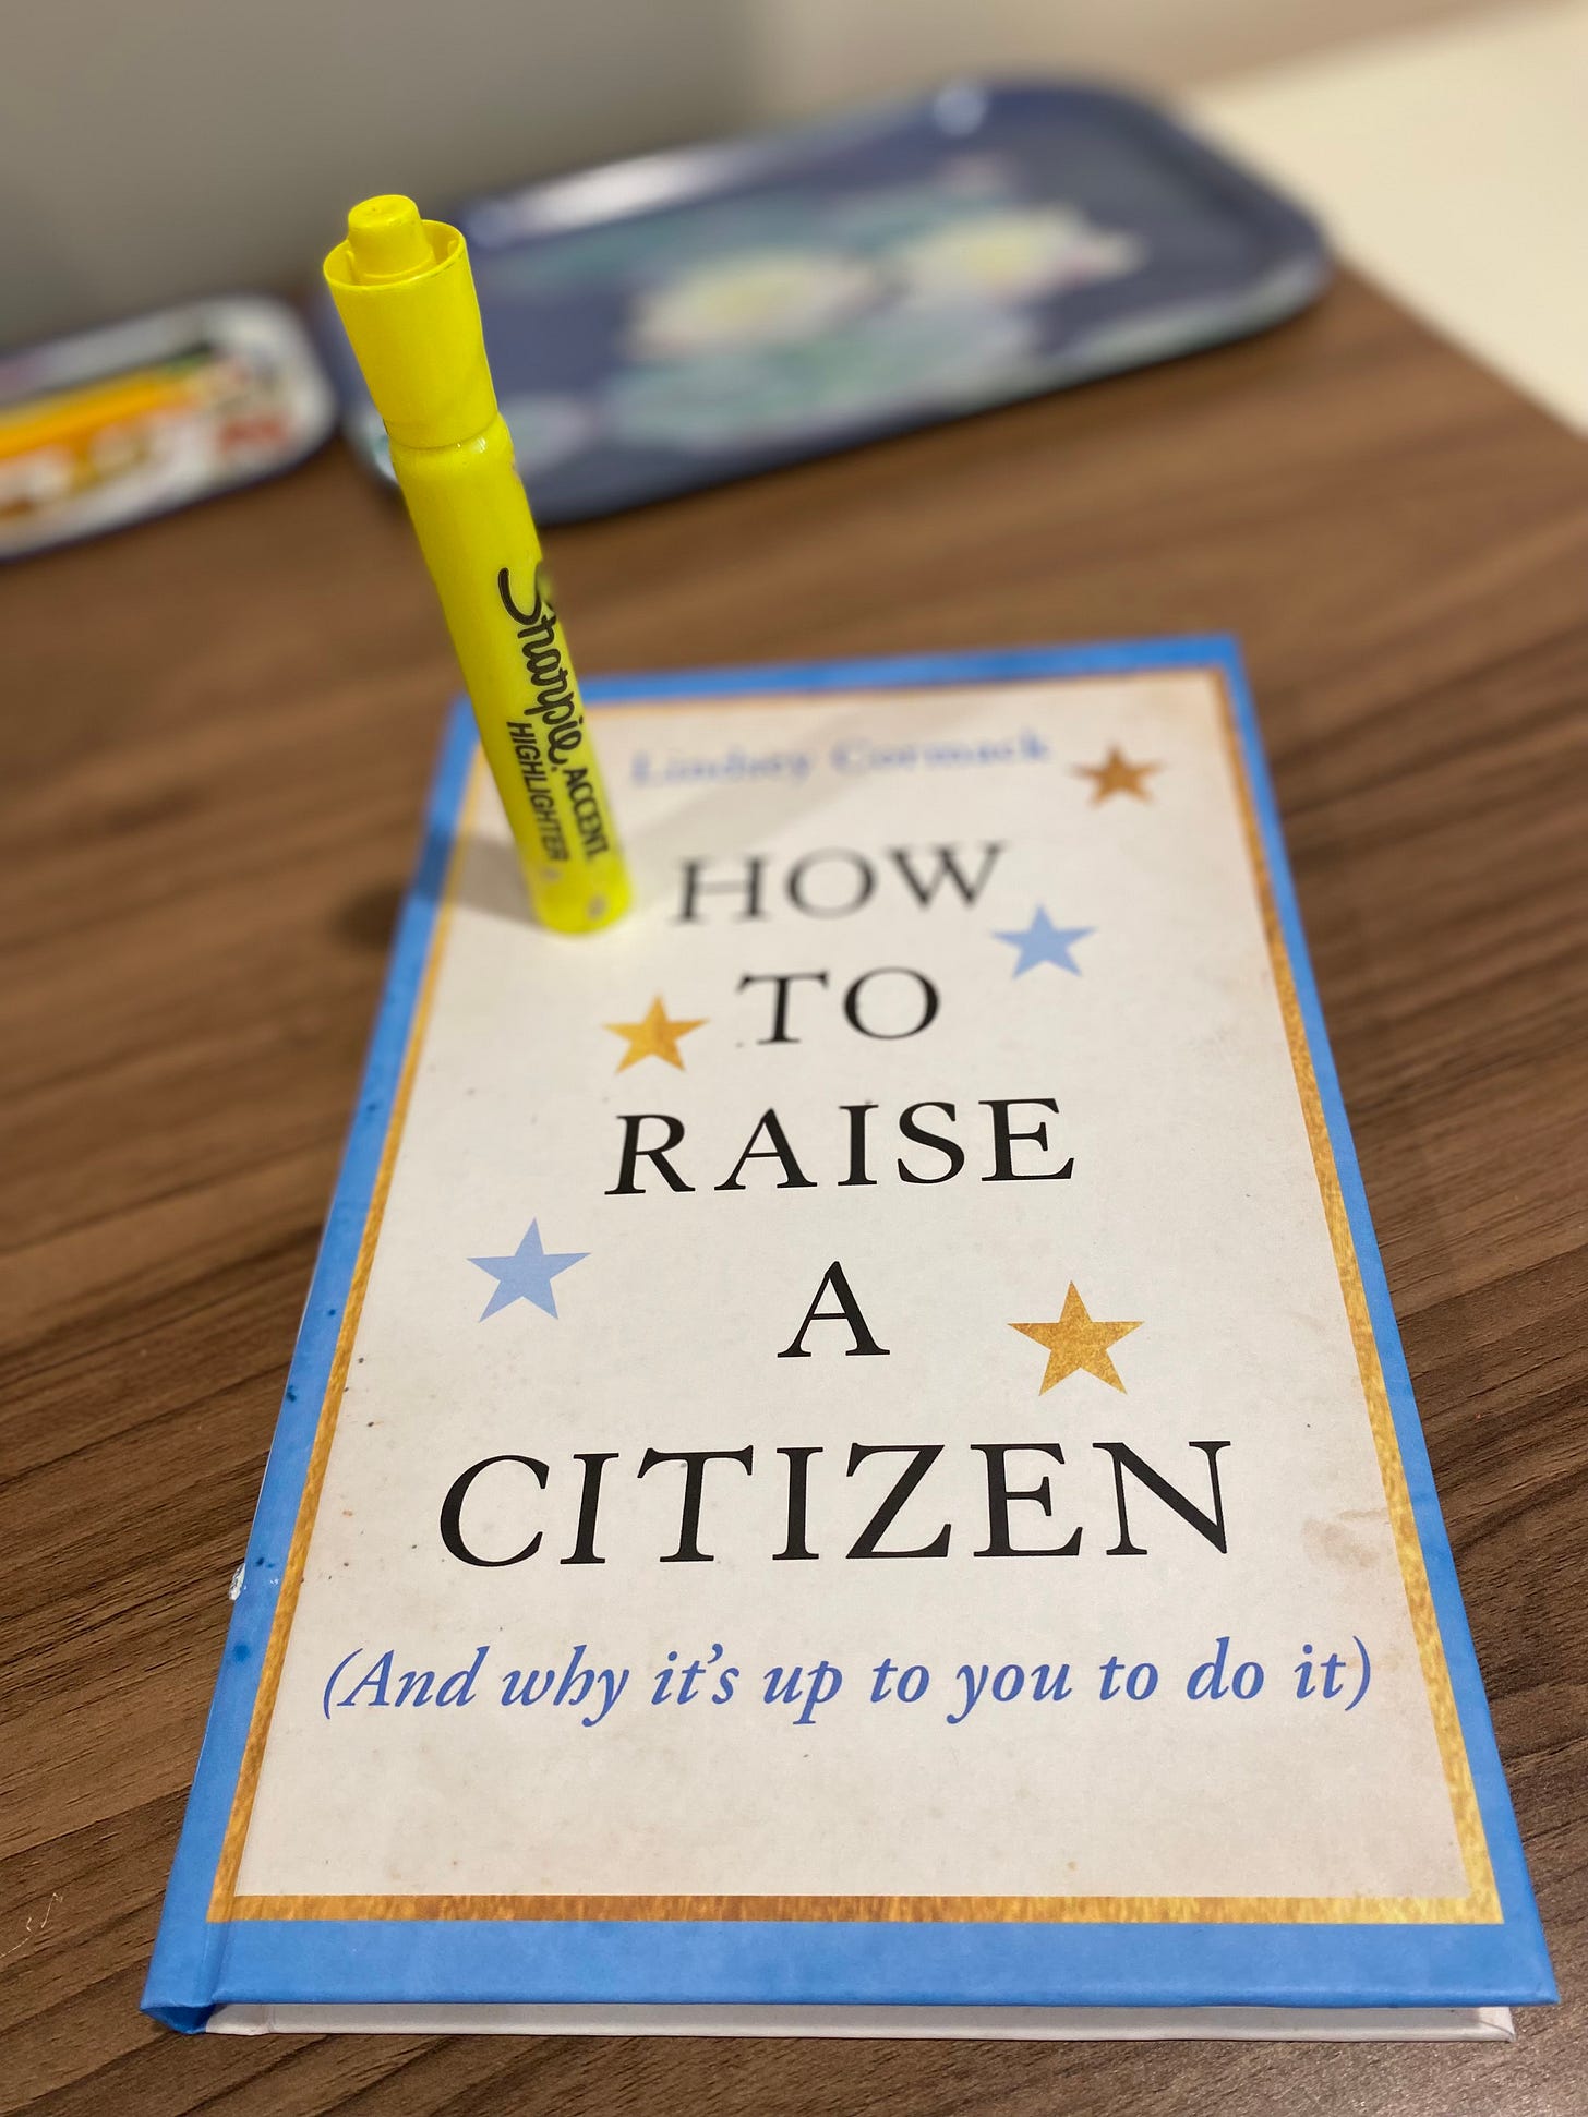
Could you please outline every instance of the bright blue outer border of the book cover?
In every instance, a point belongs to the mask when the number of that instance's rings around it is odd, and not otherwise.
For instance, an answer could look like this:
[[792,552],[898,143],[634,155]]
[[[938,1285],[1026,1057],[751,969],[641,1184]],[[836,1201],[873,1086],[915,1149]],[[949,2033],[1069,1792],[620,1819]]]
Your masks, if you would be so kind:
[[229,2001],[760,2003],[760,2005],[1311,2005],[1476,2007],[1552,2001],[1544,1933],[1495,1749],[1423,1429],[1372,1234],[1279,809],[1241,656],[1224,635],[881,661],[669,671],[587,686],[591,705],[756,692],[891,690],[1035,677],[1217,669],[1234,707],[1317,1090],[1368,1298],[1461,1734],[1488,1840],[1499,1924],[794,1924],[747,1920],[237,1920],[207,1918],[265,1645],[320,1406],[430,953],[474,726],[447,724],[341,1177],[271,1444],[248,1556],[165,1895],[144,2009],[203,2028]]

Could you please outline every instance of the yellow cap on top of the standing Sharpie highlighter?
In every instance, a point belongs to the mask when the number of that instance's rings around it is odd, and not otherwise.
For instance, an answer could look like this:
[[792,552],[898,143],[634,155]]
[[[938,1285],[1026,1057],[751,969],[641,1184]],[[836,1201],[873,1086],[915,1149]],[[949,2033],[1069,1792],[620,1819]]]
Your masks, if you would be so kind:
[[392,440],[447,449],[495,417],[468,246],[413,199],[364,199],[326,286]]

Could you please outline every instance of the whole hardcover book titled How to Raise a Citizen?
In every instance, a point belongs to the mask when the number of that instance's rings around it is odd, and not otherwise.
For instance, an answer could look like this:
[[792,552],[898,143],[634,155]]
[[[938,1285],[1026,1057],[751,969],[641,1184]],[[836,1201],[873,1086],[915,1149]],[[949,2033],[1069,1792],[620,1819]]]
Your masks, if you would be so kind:
[[1226,639],[459,709],[144,2005],[1503,2037],[1550,1965]]

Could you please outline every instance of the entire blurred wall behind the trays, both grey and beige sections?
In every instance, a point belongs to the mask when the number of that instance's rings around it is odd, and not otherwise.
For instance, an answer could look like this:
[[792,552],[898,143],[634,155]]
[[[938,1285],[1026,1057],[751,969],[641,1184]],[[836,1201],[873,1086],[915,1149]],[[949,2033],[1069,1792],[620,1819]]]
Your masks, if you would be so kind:
[[11,0],[0,345],[205,288],[303,282],[371,191],[434,210],[957,72],[1162,87],[1450,4]]

